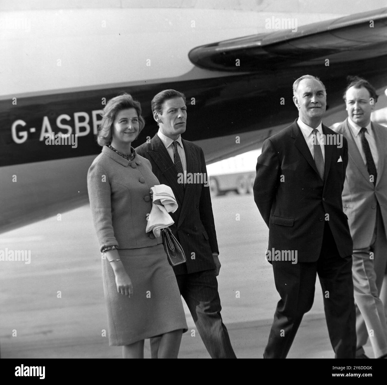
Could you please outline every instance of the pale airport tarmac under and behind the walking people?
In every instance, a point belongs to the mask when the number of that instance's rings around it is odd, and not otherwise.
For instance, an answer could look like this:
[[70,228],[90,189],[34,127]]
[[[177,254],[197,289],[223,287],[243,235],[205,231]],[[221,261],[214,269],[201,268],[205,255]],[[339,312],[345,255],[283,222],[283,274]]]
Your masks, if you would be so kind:
[[[265,261],[268,229],[252,195],[213,197],[223,322],[238,358],[262,358],[279,296]],[[60,220],[58,220],[60,219]],[[120,358],[109,347],[101,260],[89,206],[0,235],[0,250],[30,250],[30,263],[0,262],[2,358]],[[184,303],[185,306],[185,303]],[[185,306],[180,358],[210,358]],[[366,354],[373,357],[370,343]],[[149,342],[145,357],[150,357]],[[333,358],[317,279],[315,302],[288,358]]]

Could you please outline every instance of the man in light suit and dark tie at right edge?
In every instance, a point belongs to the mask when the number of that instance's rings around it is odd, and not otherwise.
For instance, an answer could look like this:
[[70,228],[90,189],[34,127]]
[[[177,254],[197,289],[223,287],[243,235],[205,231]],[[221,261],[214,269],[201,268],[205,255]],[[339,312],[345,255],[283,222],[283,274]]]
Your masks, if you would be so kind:
[[369,82],[350,78],[344,92],[348,118],[335,129],[348,141],[342,204],[353,238],[356,358],[368,358],[363,349],[368,336],[375,358],[387,358],[387,321],[379,298],[387,278],[387,128],[371,122],[377,100]]

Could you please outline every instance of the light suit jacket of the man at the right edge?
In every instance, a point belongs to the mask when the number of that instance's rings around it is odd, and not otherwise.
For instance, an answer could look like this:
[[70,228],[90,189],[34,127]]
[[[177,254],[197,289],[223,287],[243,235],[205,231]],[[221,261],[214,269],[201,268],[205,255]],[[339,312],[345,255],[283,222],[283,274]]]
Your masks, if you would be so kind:
[[336,129],[348,140],[348,167],[342,191],[343,211],[348,216],[353,248],[368,247],[375,228],[377,203],[380,205],[384,228],[387,231],[387,128],[371,123],[379,155],[376,186],[370,175],[349,128],[348,118]]

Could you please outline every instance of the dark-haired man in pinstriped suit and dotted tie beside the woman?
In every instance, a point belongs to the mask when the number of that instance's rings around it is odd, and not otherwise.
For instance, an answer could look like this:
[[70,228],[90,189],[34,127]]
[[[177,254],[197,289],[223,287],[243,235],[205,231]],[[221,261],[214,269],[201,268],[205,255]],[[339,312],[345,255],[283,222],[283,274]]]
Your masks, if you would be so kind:
[[[185,96],[163,90],[152,99],[158,133],[136,148],[150,160],[161,184],[170,186],[178,209],[171,216],[173,235],[183,247],[187,262],[173,267],[180,293],[212,358],[236,358],[221,317],[216,276],[219,250],[203,150],[183,140],[187,107]],[[157,338],[151,339],[152,358],[157,357]]]

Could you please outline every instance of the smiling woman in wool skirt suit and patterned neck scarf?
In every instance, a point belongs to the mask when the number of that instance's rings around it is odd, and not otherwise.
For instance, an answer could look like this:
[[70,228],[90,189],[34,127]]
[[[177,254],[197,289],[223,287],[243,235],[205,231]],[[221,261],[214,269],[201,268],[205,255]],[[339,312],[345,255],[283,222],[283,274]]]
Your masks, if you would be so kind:
[[124,358],[143,358],[144,339],[161,335],[158,358],[177,358],[187,323],[163,241],[145,232],[150,188],[159,181],[149,160],[131,147],[143,127],[139,102],[129,94],[111,99],[98,130],[102,152],[87,174],[104,256],[109,344],[122,345]]

